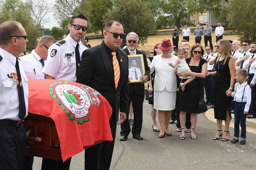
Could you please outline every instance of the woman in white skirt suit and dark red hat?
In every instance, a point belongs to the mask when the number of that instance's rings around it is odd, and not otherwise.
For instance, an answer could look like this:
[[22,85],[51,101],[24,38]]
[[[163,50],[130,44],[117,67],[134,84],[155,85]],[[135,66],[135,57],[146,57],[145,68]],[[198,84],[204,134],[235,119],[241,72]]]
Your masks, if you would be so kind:
[[155,70],[154,108],[158,110],[161,126],[159,138],[163,138],[165,134],[171,136],[168,125],[171,110],[174,110],[176,102],[176,69],[170,67],[168,63],[174,63],[178,58],[176,55],[171,55],[174,47],[170,40],[163,40],[161,45],[157,46],[162,50],[162,54],[154,56],[150,65],[150,72]]

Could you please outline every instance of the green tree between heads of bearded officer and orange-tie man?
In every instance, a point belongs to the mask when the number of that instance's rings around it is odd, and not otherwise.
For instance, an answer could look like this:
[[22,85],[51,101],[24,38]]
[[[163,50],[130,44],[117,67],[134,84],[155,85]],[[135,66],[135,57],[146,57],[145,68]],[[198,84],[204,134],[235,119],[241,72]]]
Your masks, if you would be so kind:
[[88,18],[91,25],[91,30],[101,31],[103,35],[104,17],[109,9],[112,8],[111,0],[91,0],[88,7]]

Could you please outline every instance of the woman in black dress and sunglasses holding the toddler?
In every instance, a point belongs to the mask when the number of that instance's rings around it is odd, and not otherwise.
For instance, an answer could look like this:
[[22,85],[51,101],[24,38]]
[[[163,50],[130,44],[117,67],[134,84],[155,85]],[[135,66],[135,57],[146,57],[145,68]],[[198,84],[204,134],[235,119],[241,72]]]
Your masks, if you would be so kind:
[[[180,110],[180,126],[181,134],[180,139],[185,138],[185,121],[186,113],[191,113],[191,139],[196,139],[195,136],[195,125],[197,122],[197,109],[199,105],[199,100],[201,97],[202,90],[202,78],[206,77],[207,73],[207,61],[203,58],[204,49],[200,44],[195,44],[191,48],[191,56],[186,59],[190,70],[186,70],[181,73],[181,76],[195,76],[195,79],[186,85],[184,91],[179,88],[178,98],[179,98],[179,110]],[[183,83],[187,79],[183,79]],[[188,101],[189,99],[189,101]]]

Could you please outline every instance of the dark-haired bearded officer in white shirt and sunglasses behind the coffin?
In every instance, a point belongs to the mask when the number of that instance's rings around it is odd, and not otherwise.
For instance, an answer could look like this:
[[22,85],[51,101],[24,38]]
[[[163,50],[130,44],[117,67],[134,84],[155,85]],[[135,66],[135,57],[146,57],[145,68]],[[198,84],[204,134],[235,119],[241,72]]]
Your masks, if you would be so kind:
[[[88,49],[81,39],[85,36],[88,19],[85,15],[74,15],[68,24],[69,34],[66,38],[52,45],[48,50],[46,64],[42,73],[46,79],[61,79],[76,82],[76,74],[81,62],[81,55]],[[62,160],[45,159],[41,170],[69,170],[71,157]]]

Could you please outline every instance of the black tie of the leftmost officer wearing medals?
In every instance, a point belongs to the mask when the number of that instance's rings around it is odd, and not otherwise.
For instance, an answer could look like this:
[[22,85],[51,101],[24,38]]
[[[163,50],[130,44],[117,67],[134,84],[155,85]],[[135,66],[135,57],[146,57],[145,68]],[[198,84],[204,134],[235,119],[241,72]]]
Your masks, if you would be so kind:
[[25,98],[24,98],[24,91],[23,91],[23,86],[22,86],[22,79],[20,75],[20,67],[19,67],[19,61],[18,58],[16,57],[16,64],[15,68],[17,71],[17,77],[19,84],[17,85],[18,87],[18,92],[19,92],[19,117],[21,120],[23,120],[26,116],[26,104],[25,104]]

